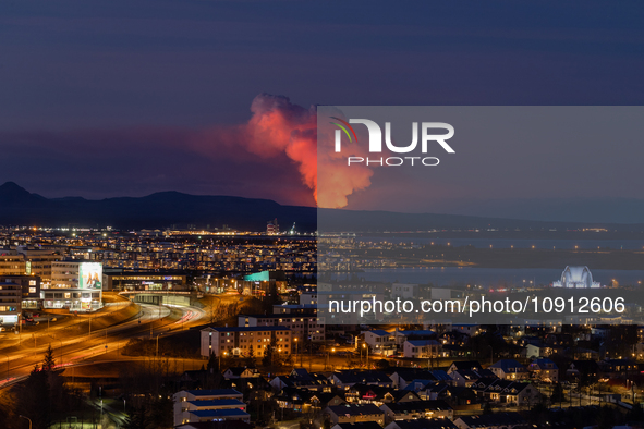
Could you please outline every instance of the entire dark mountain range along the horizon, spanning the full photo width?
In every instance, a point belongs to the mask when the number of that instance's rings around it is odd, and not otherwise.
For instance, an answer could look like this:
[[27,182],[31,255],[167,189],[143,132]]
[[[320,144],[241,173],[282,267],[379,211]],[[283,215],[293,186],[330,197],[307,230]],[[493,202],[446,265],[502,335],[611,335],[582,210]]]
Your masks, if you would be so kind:
[[435,229],[521,229],[544,230],[607,228],[644,231],[644,224],[550,222],[459,214],[397,213],[282,206],[269,199],[231,196],[189,195],[160,192],[146,197],[90,200],[82,197],[45,198],[13,182],[0,186],[0,225],[85,226],[117,229],[230,228],[265,231],[275,218],[280,229],[293,223],[300,232],[320,231],[428,231]]

